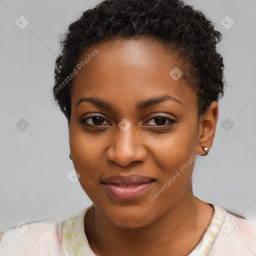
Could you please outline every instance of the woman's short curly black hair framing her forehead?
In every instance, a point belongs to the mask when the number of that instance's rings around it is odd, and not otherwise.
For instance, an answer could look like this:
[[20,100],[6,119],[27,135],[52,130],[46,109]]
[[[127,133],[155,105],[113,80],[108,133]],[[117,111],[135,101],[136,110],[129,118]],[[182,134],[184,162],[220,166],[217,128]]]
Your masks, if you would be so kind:
[[117,38],[151,39],[176,56],[183,79],[196,92],[198,117],[223,96],[224,64],[216,52],[222,34],[201,11],[181,0],[104,0],[84,11],[60,39],[52,94],[68,123],[73,80],[68,75],[86,49]]

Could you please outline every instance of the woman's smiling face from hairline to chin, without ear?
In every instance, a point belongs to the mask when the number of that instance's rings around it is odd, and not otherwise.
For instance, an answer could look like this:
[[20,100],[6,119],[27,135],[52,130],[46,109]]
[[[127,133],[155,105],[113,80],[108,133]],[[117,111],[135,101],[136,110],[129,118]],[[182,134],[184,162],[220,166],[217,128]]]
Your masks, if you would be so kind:
[[79,182],[108,220],[144,226],[191,196],[201,152],[196,94],[150,41],[103,42],[86,57],[73,79],[69,124]]

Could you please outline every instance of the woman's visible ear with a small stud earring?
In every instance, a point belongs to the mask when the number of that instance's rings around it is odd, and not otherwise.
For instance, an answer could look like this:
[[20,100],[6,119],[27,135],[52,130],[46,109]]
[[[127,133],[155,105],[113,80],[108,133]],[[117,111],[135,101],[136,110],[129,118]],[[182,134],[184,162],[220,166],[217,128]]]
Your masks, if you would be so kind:
[[205,154],[205,151],[203,150],[205,146],[208,147],[208,149],[212,146],[217,119],[218,103],[216,101],[212,101],[207,112],[199,118],[197,150],[201,155]]

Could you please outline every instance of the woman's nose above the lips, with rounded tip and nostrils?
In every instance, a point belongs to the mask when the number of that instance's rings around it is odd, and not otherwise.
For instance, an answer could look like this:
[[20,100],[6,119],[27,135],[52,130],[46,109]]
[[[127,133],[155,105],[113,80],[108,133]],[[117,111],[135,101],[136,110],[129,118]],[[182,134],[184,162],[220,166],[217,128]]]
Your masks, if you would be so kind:
[[134,161],[142,162],[146,158],[145,144],[142,138],[135,134],[132,127],[126,131],[118,127],[106,150],[105,157],[108,162],[119,166],[128,166]]

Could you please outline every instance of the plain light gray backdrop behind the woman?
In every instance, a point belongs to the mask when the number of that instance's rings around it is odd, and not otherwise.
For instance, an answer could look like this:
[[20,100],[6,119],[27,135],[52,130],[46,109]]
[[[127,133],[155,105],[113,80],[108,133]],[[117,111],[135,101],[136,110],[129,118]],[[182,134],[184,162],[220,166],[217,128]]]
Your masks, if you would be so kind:
[[[97,2],[0,0],[0,230],[20,220],[64,220],[91,203],[79,182],[66,177],[73,169],[67,121],[46,94],[53,85],[58,35]],[[223,34],[218,51],[228,85],[213,146],[195,164],[194,194],[255,219],[256,0],[186,2]],[[21,15],[29,21],[24,29],[15,24]],[[229,29],[220,23],[226,15],[234,20]],[[28,123],[23,131],[21,118]]]

